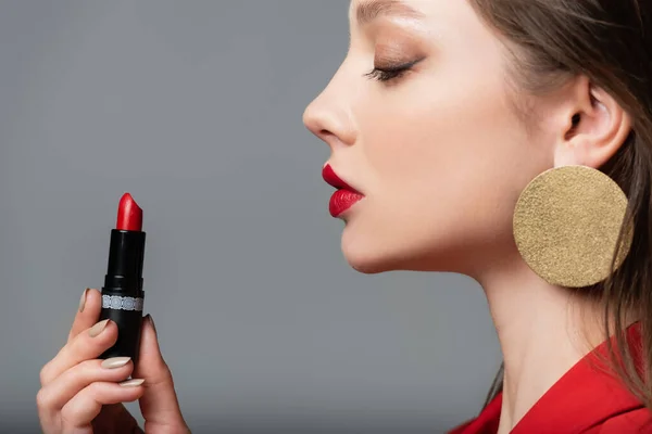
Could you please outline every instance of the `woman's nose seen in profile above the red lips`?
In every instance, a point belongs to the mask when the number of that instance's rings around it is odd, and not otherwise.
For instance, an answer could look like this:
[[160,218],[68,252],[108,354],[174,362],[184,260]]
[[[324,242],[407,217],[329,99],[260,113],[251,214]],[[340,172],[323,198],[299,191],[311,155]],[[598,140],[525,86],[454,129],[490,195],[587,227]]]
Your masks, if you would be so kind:
[[351,93],[346,90],[340,69],[303,112],[305,127],[330,148],[355,142],[351,103],[347,99]]

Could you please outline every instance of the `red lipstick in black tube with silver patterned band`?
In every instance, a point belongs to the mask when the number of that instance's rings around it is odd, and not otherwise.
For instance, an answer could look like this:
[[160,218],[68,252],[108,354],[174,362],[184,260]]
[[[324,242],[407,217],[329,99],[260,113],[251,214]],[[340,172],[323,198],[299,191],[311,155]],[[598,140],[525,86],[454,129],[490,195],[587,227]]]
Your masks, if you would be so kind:
[[117,342],[100,358],[130,357],[138,359],[142,323],[142,265],[145,259],[142,209],[129,193],[117,207],[117,222],[111,230],[109,264],[102,288],[100,320],[117,324]]

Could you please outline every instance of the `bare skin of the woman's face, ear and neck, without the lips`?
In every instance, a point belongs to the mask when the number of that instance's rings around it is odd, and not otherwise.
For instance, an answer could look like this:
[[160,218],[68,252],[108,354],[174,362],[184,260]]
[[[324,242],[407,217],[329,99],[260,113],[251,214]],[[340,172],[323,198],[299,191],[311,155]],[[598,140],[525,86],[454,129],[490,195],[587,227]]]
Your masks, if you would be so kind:
[[340,216],[342,251],[362,272],[479,282],[505,361],[499,432],[507,433],[602,331],[595,306],[523,261],[515,203],[549,168],[604,164],[631,119],[577,77],[529,98],[537,124],[528,128],[512,104],[526,97],[507,86],[500,37],[466,1],[353,0],[347,58],[304,113],[330,166],[365,195]]

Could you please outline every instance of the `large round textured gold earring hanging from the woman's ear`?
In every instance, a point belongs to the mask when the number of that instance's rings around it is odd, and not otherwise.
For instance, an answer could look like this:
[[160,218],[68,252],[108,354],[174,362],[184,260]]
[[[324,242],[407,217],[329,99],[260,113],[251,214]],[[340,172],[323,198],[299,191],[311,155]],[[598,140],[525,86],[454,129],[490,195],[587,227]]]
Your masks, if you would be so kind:
[[[627,209],[627,196],[602,171],[563,166],[537,176],[522,192],[513,230],[523,259],[548,283],[584,288],[605,280]],[[615,263],[631,246],[626,230]]]

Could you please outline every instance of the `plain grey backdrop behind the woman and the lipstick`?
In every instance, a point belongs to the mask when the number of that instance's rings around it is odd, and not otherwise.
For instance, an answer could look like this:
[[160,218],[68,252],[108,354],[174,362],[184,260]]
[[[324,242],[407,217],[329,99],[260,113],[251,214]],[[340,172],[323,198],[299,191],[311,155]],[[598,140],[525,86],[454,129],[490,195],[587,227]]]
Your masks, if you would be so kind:
[[[305,105],[348,0],[2,1],[0,432],[100,286],[117,201],[195,433],[437,433],[500,356],[479,286],[351,270]],[[135,406],[129,406],[135,408]]]

